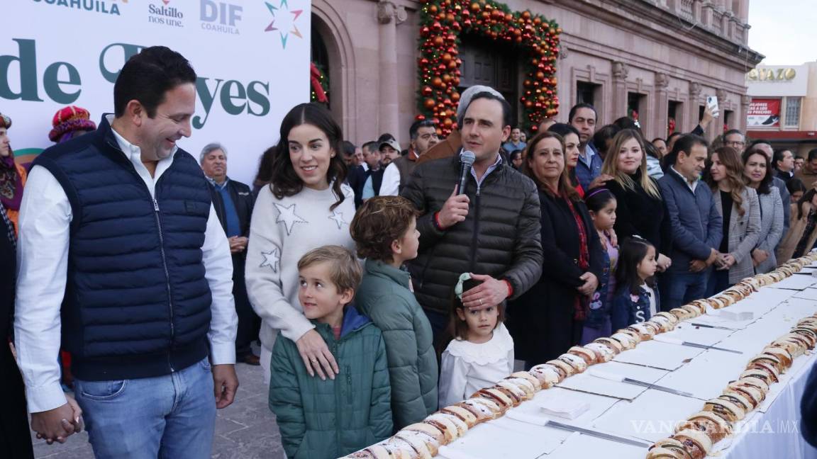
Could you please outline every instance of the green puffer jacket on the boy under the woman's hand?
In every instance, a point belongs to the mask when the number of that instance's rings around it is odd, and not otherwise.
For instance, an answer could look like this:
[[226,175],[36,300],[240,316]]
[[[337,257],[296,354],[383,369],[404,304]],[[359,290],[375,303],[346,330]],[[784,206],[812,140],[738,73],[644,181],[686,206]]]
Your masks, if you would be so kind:
[[380,329],[352,306],[341,337],[315,323],[341,372],[334,381],[310,377],[291,340],[279,336],[272,350],[270,410],[290,458],[345,456],[391,435],[391,388]]

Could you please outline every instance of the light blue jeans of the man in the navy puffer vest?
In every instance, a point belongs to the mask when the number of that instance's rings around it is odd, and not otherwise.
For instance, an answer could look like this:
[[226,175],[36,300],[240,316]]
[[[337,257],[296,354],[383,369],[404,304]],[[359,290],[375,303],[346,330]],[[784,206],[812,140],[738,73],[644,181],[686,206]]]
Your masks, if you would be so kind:
[[163,377],[74,381],[97,459],[210,457],[216,400],[208,359]]

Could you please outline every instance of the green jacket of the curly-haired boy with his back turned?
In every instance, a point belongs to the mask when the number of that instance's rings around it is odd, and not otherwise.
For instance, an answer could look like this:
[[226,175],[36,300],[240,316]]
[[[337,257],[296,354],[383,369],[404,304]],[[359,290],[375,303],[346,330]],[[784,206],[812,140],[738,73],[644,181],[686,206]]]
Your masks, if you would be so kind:
[[366,261],[355,301],[383,331],[391,379],[395,430],[437,409],[437,356],[431,324],[408,289],[409,274],[382,261]]

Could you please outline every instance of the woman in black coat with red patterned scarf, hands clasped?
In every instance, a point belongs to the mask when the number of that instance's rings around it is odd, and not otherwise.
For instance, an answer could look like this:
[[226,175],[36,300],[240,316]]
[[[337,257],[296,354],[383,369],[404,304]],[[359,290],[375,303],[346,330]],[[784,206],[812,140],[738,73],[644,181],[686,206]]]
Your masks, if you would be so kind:
[[587,207],[565,172],[564,140],[545,131],[527,149],[522,171],[539,189],[546,256],[538,283],[509,305],[507,326],[516,359],[530,368],[578,345],[604,256]]

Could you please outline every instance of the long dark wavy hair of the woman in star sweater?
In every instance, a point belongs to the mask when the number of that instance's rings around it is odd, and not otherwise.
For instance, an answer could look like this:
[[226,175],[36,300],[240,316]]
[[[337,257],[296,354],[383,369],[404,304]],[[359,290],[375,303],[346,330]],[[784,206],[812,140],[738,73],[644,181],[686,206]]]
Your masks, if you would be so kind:
[[[314,103],[296,105],[289,110],[287,116],[281,122],[281,135],[276,145],[275,154],[272,157],[270,176],[270,190],[275,194],[275,198],[294,196],[301,193],[304,184],[292,166],[292,159],[289,158],[289,131],[293,127],[301,124],[311,124],[321,131],[324,131],[329,146],[335,151],[335,156],[329,160],[329,167],[326,171],[326,180],[332,185],[332,190],[337,197],[337,201],[329,207],[334,210],[341,205],[344,200],[341,185],[346,179],[346,164],[343,163],[343,133],[341,127],[332,118],[332,114],[323,105]],[[261,175],[261,172],[259,172]]]

